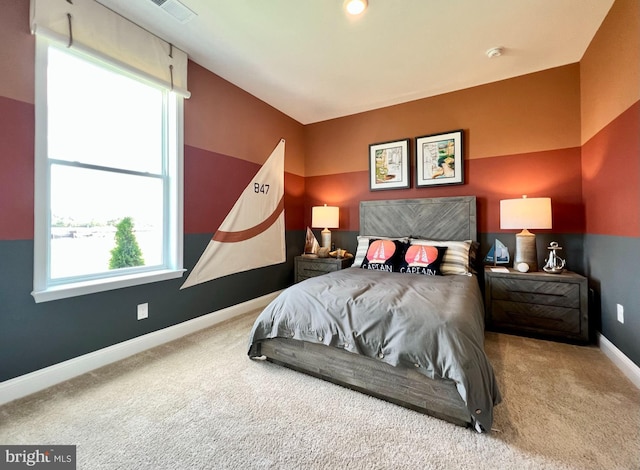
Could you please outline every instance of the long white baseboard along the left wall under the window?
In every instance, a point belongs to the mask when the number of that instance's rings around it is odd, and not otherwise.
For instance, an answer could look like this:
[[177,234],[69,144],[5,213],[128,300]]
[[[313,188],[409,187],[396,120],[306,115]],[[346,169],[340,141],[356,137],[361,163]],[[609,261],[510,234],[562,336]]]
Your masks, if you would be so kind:
[[0,383],[0,405],[266,306],[280,291],[203,315]]

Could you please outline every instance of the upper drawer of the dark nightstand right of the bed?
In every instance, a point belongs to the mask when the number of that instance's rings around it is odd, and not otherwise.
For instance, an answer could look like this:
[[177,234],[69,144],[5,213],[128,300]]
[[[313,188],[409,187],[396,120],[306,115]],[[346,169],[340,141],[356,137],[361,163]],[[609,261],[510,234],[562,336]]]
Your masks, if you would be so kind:
[[571,309],[580,308],[580,286],[578,284],[495,278],[491,295],[494,300],[510,300]]

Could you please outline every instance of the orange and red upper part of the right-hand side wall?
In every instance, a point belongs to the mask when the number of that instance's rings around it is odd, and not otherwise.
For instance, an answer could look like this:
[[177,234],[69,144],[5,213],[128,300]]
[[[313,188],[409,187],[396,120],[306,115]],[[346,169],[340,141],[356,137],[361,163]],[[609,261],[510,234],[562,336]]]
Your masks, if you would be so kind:
[[586,233],[640,236],[640,2],[617,0],[580,63]]

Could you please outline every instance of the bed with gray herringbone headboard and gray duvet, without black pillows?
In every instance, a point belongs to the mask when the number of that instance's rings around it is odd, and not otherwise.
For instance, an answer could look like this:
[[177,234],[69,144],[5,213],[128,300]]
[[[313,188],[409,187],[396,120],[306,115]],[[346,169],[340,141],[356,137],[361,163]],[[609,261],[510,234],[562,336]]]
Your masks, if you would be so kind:
[[[249,357],[489,431],[501,396],[484,353],[482,296],[469,260],[452,258],[476,230],[472,196],[361,202],[354,267],[285,289],[256,319]],[[356,267],[383,239],[447,246],[444,275]]]

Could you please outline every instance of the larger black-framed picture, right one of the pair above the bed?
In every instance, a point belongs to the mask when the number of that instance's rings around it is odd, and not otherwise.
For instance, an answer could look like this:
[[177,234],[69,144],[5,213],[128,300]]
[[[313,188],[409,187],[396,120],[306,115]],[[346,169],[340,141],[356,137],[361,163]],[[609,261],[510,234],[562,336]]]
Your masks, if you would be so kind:
[[416,137],[416,187],[464,183],[462,130]]

